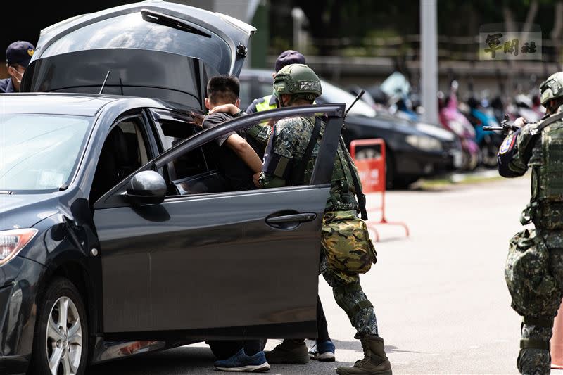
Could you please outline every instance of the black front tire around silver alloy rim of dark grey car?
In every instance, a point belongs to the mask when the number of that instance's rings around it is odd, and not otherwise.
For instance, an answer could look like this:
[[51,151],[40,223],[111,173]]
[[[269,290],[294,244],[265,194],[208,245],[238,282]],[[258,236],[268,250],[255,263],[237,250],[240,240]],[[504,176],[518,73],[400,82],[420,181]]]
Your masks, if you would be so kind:
[[[68,298],[71,303],[68,303],[66,327],[60,332],[63,336],[61,343],[55,342],[53,338],[47,336],[47,329],[49,322],[53,317],[60,318],[59,312],[61,311],[62,304]],[[77,315],[77,316],[75,316]],[[80,319],[80,322],[77,321]],[[58,321],[63,324],[60,320]],[[73,333],[74,331],[68,330],[80,326],[79,335]],[[62,325],[59,325],[61,329]],[[75,338],[76,341],[72,341]],[[35,335],[33,341],[32,362],[30,364],[29,374],[33,375],[52,375],[49,369],[49,357],[53,358],[55,348],[61,348],[61,360],[58,362],[56,374],[65,374],[64,366],[70,362],[75,362],[75,374],[82,375],[88,363],[88,320],[84,302],[80,297],[77,288],[68,279],[57,277],[53,279],[48,286],[44,289],[42,296],[39,298],[37,306],[37,322],[35,324]],[[79,345],[80,343],[80,345]],[[61,345],[61,346],[58,346]],[[77,355],[80,352],[80,357]],[[73,361],[74,359],[74,361]],[[68,360],[68,361],[67,361]],[[76,363],[78,362],[78,363]]]

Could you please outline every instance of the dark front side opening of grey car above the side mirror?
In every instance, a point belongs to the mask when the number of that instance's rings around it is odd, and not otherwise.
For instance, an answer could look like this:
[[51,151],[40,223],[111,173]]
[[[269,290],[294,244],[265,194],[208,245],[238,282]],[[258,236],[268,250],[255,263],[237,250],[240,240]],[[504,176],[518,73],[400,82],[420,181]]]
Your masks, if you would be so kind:
[[144,129],[141,118],[132,117],[117,122],[110,130],[96,165],[91,204],[150,160]]

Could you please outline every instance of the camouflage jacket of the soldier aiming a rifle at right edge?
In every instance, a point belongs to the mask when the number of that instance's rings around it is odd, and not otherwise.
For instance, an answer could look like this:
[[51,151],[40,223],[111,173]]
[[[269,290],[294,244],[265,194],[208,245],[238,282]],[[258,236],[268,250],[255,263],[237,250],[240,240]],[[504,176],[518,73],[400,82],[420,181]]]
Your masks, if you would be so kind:
[[[561,111],[563,108],[559,108]],[[531,199],[522,212],[522,224],[533,222],[548,248],[563,248],[563,120],[541,129],[541,122],[527,124],[512,134],[515,140],[508,169],[521,176],[531,169]],[[502,147],[499,153],[503,153]]]

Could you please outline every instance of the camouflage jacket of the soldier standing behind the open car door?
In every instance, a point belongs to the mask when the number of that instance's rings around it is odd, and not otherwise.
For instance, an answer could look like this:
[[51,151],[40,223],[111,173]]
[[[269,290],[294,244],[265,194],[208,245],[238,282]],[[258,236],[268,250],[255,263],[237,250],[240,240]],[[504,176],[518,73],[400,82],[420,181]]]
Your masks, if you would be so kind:
[[[305,150],[311,138],[313,128],[315,127],[315,117],[290,117],[279,120],[274,126],[274,144],[272,145],[272,153],[281,155],[289,159],[288,168],[301,163]],[[319,153],[320,139],[324,133],[324,122],[321,125],[320,138],[313,148],[310,160],[307,161],[305,167],[304,182],[311,179],[312,170],[315,166],[315,160]],[[262,134],[263,135],[263,134]],[[339,145],[336,158],[334,160],[334,169],[332,170],[330,195],[327,200],[325,211],[340,210],[358,210],[358,202],[355,199],[355,189],[353,185],[352,175],[358,176],[358,171],[353,167],[350,171],[346,163],[346,157],[350,157],[348,150],[342,149]],[[264,160],[265,165],[267,160]],[[358,181],[360,178],[358,177]],[[274,176],[268,172],[262,172],[260,175],[260,184],[265,187],[279,187],[291,184],[278,176]]]

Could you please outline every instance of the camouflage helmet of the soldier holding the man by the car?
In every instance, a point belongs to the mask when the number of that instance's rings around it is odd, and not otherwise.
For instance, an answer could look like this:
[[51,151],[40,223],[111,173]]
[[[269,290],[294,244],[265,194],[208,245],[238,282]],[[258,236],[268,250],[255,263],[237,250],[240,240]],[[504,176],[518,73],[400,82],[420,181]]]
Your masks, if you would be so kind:
[[274,77],[274,94],[277,98],[291,94],[313,101],[322,94],[321,81],[305,64],[286,65]]

